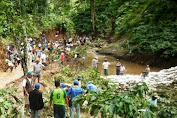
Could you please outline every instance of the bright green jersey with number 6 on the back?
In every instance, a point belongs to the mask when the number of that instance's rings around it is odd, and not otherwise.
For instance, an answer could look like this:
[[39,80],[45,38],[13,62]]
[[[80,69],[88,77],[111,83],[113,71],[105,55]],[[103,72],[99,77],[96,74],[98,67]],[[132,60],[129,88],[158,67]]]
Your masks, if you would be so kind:
[[52,91],[50,99],[52,99],[53,104],[56,105],[65,105],[64,98],[66,98],[66,91],[61,88],[57,88]]

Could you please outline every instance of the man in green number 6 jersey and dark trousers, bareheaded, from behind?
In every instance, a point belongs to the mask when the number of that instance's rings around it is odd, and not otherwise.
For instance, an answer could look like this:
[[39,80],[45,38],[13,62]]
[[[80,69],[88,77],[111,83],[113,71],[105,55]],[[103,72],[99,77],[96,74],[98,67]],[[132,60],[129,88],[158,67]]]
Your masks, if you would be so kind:
[[50,95],[50,109],[53,102],[54,118],[65,118],[65,102],[67,104],[66,91],[60,88],[60,82],[55,81],[55,87]]

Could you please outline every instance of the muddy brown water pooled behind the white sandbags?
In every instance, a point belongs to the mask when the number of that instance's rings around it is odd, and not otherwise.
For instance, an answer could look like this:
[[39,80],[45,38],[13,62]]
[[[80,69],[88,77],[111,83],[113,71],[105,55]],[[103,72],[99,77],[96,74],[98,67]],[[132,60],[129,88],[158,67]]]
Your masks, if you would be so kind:
[[[103,68],[102,68],[102,63],[104,61],[104,59],[108,59],[108,62],[111,63],[111,65],[109,66],[109,75],[115,75],[116,74],[116,58],[111,57],[111,56],[106,56],[106,55],[99,55],[96,54],[94,52],[88,52],[86,55],[86,60],[85,60],[85,66],[90,67],[91,68],[91,64],[92,64],[92,59],[98,57],[98,71],[101,73],[101,75],[104,74],[103,72]],[[124,60],[120,60],[121,64],[123,64],[126,68],[126,72],[125,74],[136,74],[139,75],[141,74],[146,66],[144,65],[140,65],[140,64],[136,64],[136,63],[131,63],[129,61],[124,61]],[[154,68],[154,67],[150,67],[151,72],[158,72],[160,71],[160,68]]]

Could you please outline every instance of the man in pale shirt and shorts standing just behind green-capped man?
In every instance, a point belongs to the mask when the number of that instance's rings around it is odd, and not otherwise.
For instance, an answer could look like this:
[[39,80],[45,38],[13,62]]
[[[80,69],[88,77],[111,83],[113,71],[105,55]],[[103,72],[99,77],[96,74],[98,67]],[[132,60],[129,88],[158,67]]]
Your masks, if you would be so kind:
[[35,73],[34,74],[35,77],[38,79],[38,83],[40,81],[42,68],[43,68],[43,65],[39,63],[39,60],[36,60],[36,63],[34,64],[34,67],[33,67],[33,71]]

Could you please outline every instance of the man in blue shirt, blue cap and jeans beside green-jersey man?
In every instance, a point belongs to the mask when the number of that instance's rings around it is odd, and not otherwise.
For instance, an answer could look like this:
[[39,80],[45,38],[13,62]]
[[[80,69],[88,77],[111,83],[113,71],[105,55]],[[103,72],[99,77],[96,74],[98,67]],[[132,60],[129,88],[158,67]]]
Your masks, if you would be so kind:
[[73,98],[75,98],[76,96],[78,96],[80,94],[83,94],[82,88],[80,88],[78,85],[79,85],[79,81],[75,80],[74,86],[69,88],[69,90],[67,92],[68,99],[70,99],[70,101],[71,101],[70,118],[74,118],[74,108],[76,109],[77,118],[80,118],[80,104],[72,104]]

